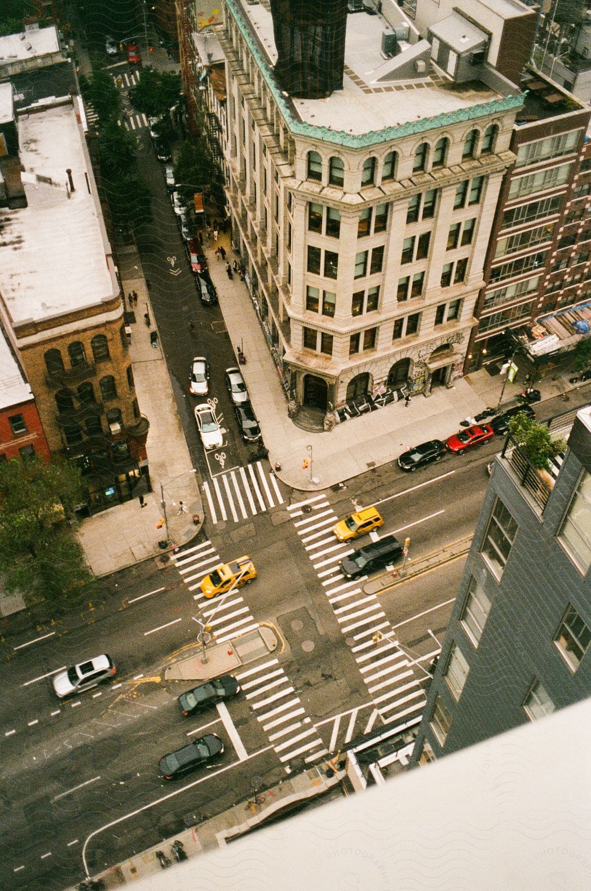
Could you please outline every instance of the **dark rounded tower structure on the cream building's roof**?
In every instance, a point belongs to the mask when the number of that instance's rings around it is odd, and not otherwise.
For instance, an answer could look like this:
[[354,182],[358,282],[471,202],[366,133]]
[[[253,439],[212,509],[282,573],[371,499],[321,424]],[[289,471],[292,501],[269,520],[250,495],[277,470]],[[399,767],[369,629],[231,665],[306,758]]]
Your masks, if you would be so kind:
[[271,0],[282,89],[301,99],[322,99],[341,89],[347,0]]

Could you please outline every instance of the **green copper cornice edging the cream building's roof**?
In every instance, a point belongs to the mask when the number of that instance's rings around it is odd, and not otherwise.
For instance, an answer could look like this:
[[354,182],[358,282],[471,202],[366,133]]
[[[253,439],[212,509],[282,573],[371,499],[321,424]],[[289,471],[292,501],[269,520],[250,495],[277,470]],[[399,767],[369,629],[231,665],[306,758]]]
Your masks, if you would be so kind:
[[260,73],[267,83],[267,86],[291,133],[298,136],[306,136],[308,139],[319,139],[324,143],[334,143],[335,145],[343,145],[350,149],[362,149],[379,143],[388,143],[395,139],[401,139],[403,136],[410,136],[417,133],[424,133],[427,130],[437,130],[442,127],[450,127],[463,121],[476,120],[485,118],[488,115],[501,114],[504,111],[521,108],[523,97],[521,94],[516,96],[505,96],[504,99],[493,99],[491,102],[482,102],[479,105],[471,105],[470,108],[457,109],[449,113],[439,114],[435,118],[422,118],[419,120],[408,121],[406,124],[399,124],[397,127],[384,127],[383,130],[370,130],[363,135],[354,136],[345,133],[344,130],[329,130],[328,127],[316,127],[301,121],[294,114],[291,104],[287,101],[289,97],[283,94],[275,81],[273,68],[269,64],[267,57],[261,52],[259,44],[254,38],[250,25],[246,20],[242,7],[236,0],[225,0],[226,6],[231,10],[234,20],[240,29],[242,37],[249,46],[250,53],[257,61]]

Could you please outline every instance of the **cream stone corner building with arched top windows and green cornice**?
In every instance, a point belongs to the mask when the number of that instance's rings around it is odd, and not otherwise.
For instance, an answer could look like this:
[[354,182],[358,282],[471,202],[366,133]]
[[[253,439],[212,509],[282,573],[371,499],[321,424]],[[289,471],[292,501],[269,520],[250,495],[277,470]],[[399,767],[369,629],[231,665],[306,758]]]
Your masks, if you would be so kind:
[[443,37],[394,4],[346,25],[342,88],[320,99],[277,80],[267,2],[226,0],[217,29],[234,248],[286,394],[323,413],[462,374],[522,103],[480,58],[447,75]]

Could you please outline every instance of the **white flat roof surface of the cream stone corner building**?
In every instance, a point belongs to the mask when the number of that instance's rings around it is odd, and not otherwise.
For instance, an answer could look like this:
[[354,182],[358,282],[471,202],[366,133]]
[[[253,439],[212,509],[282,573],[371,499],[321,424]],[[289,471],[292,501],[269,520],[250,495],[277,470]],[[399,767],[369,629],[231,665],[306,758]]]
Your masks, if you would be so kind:
[[[277,53],[271,13],[263,4],[251,6],[247,0],[242,0],[242,10],[267,50],[270,64],[274,65]],[[383,78],[388,64],[401,59],[398,55],[386,61],[382,56],[382,33],[387,27],[388,22],[381,15],[356,12],[347,17],[345,69],[353,72],[355,80],[345,73],[342,90],[335,91],[328,99],[293,98],[303,121],[363,135],[502,98],[484,84],[478,91],[470,87],[448,89],[445,78],[432,78],[428,74],[402,81],[379,79]]]

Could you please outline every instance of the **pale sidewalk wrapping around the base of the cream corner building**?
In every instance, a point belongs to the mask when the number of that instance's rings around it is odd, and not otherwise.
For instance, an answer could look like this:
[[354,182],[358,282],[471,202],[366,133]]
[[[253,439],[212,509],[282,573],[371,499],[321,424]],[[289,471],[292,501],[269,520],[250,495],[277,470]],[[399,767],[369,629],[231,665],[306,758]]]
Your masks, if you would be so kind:
[[[220,233],[218,244],[224,246],[232,263],[234,253],[228,235]],[[450,389],[434,388],[429,398],[417,394],[407,407],[402,402],[392,403],[337,424],[329,433],[300,429],[287,416],[283,388],[246,284],[240,282],[237,275],[228,280],[225,264],[215,256],[215,247],[212,243],[205,251],[209,273],[218,289],[234,349],[242,343],[247,363],[241,372],[269,450],[269,462],[272,467],[275,462],[281,464],[276,475],[285,485],[304,491],[322,491],[394,461],[398,454],[425,440],[447,439],[460,429],[460,421],[498,404],[504,377],[500,374],[491,377],[482,370],[456,380]],[[503,405],[511,403],[524,388],[523,373],[518,374],[513,384],[506,385]],[[571,389],[568,378],[572,373],[562,372],[557,380],[548,375],[536,384],[542,399]],[[312,446],[311,462],[308,446]],[[307,470],[302,469],[304,459],[309,462]]]

